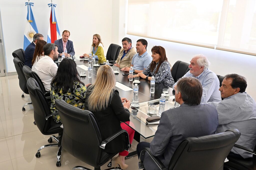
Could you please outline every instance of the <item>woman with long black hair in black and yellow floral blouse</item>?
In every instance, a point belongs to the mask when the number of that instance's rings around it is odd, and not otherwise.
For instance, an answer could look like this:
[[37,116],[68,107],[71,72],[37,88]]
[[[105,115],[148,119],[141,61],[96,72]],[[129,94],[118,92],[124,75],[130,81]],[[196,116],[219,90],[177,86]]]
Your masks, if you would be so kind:
[[[51,82],[51,113],[57,113],[56,99],[63,99],[68,104],[84,108],[86,86],[80,80],[76,63],[70,58],[64,58],[59,64],[56,76]],[[53,116],[56,123],[61,123],[60,116]]]

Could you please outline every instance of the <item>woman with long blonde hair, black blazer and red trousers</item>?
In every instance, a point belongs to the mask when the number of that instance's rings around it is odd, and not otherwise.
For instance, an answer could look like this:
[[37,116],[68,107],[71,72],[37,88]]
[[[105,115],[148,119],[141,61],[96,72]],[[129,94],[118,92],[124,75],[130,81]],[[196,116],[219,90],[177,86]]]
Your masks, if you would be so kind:
[[[134,130],[125,123],[130,117],[130,101],[120,98],[119,92],[115,88],[115,75],[113,69],[108,65],[101,66],[97,71],[97,78],[93,85],[89,86],[86,91],[85,110],[91,111],[97,119],[103,140],[113,135],[121,129],[129,134],[130,143],[132,143]],[[124,104],[122,104],[124,103]],[[130,122],[127,122],[130,123]],[[124,164],[124,157],[128,155],[124,151],[124,138],[118,136],[104,150],[109,153],[119,152],[116,157],[116,164],[122,169],[128,167]]]

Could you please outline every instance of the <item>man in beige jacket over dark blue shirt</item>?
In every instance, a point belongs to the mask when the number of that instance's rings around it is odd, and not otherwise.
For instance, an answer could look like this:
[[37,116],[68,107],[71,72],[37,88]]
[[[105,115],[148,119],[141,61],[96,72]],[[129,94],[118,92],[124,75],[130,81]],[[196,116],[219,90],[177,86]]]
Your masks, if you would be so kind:
[[132,47],[132,40],[130,38],[122,39],[123,48],[121,48],[118,58],[116,59],[114,66],[124,68],[130,67],[132,63],[132,57],[137,54],[135,48]]

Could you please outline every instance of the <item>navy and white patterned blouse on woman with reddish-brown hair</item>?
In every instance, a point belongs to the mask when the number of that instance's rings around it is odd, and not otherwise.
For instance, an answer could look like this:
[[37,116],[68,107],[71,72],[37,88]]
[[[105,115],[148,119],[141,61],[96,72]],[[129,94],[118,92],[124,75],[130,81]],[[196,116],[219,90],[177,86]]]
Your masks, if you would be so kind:
[[156,68],[158,66],[159,62],[156,63],[156,67],[154,68],[153,72],[150,71],[150,65],[142,72],[144,75],[149,75],[151,74],[152,76],[155,77],[156,83],[164,84],[165,86],[172,87],[174,84],[174,80],[171,74],[171,68],[170,64],[168,61],[163,61],[163,63],[160,65],[157,73]]

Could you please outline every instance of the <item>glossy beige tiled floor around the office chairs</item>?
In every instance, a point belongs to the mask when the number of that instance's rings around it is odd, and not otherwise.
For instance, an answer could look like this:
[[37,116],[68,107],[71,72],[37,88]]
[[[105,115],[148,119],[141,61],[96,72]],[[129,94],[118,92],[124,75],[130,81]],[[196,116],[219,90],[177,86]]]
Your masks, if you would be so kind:
[[[48,144],[49,136],[42,135],[34,122],[33,106],[22,106],[30,102],[28,94],[21,98],[18,76],[0,77],[0,169],[72,169],[74,166],[85,166],[74,156],[62,150],[61,167],[56,167],[57,147],[41,150],[41,157],[35,157],[37,149]],[[136,149],[137,142],[133,141],[130,151]],[[138,169],[138,158],[134,156],[125,161],[127,170]],[[106,169],[108,163],[101,167]],[[112,165],[114,166],[114,161]]]

